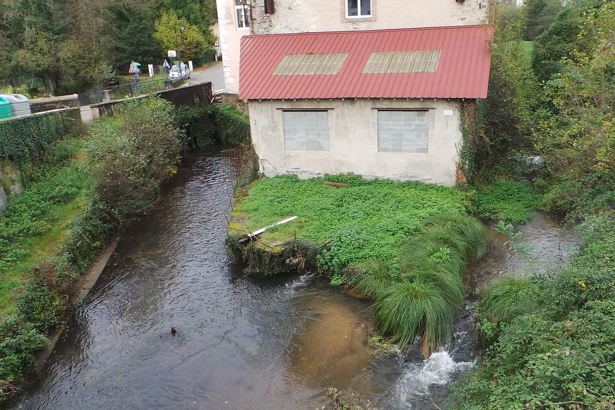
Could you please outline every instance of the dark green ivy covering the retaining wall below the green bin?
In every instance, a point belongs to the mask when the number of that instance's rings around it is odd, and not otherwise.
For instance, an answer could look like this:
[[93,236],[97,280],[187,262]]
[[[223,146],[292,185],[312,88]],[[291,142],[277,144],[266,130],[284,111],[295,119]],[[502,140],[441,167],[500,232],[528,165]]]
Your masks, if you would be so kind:
[[0,120],[0,157],[22,162],[41,154],[47,144],[66,135],[69,125],[80,120],[79,108]]

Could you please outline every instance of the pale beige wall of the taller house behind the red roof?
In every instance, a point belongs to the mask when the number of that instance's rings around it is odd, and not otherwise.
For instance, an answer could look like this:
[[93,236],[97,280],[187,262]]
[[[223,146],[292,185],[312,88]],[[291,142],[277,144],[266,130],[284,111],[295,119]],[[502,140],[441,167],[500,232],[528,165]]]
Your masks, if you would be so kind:
[[[344,0],[275,0],[264,14],[264,0],[252,0],[252,27],[237,29],[234,0],[218,0],[220,45],[229,92],[239,92],[239,43],[250,34],[306,31],[379,30],[474,25],[485,21],[490,0],[371,0],[372,17],[347,20]],[[263,56],[266,58],[266,56]]]

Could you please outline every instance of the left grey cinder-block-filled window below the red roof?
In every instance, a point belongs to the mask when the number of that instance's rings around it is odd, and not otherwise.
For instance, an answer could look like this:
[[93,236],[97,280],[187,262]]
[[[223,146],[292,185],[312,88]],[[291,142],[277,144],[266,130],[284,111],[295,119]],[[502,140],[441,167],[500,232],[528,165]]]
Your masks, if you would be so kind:
[[282,111],[285,151],[329,151],[327,111]]

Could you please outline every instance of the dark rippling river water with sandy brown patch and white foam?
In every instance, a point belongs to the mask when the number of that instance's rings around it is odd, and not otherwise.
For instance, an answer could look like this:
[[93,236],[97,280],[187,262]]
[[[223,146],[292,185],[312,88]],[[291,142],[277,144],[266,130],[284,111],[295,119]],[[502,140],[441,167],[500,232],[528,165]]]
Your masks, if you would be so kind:
[[[161,207],[125,232],[18,408],[311,410],[328,387],[389,410],[442,408],[446,384],[474,360],[469,313],[450,350],[429,360],[377,356],[364,345],[368,301],[313,274],[244,277],[223,244],[226,161],[215,149],[189,154]],[[554,262],[577,241],[542,214],[521,229]],[[525,264],[493,229],[490,244],[469,267],[470,300]]]

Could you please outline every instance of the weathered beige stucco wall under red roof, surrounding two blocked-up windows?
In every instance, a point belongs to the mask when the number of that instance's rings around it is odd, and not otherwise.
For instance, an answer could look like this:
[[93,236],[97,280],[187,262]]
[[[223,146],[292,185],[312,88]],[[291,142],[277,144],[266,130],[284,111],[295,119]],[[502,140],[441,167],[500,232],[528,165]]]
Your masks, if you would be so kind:
[[[354,98],[329,100],[248,101],[252,140],[267,176],[300,177],[354,172],[366,178],[418,180],[455,184],[459,103],[443,99],[394,100]],[[285,151],[282,111],[278,108],[333,108],[328,111],[329,151]],[[426,153],[378,152],[378,111],[372,108],[430,108]],[[445,110],[453,115],[444,115]]]

